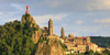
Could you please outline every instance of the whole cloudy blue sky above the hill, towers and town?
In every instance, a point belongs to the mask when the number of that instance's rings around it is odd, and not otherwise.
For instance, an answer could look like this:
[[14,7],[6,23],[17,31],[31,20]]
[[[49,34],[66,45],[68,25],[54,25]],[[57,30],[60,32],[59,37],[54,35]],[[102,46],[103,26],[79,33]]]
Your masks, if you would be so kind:
[[110,0],[0,0],[0,25],[29,13],[41,26],[53,20],[54,34],[110,36]]

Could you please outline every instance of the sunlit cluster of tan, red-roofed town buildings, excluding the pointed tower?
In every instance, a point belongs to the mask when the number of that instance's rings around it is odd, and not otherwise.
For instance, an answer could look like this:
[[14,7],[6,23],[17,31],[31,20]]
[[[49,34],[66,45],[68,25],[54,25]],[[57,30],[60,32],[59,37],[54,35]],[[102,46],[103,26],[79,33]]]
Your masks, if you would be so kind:
[[85,53],[92,50],[94,52],[101,50],[97,44],[90,42],[90,37],[67,37],[63,38],[68,50],[74,50],[74,53]]

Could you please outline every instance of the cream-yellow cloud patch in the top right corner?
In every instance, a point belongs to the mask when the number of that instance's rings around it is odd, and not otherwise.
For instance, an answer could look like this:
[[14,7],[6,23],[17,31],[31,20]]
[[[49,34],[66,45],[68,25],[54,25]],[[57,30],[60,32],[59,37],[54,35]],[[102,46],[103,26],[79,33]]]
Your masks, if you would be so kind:
[[94,0],[92,2],[87,3],[88,10],[109,10],[110,0]]

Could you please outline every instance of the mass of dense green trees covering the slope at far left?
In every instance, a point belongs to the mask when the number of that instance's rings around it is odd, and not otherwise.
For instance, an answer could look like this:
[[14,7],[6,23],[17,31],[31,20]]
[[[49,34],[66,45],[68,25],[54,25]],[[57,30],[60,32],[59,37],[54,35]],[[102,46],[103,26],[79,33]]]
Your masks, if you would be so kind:
[[30,23],[9,22],[0,26],[0,55],[31,55],[33,28]]

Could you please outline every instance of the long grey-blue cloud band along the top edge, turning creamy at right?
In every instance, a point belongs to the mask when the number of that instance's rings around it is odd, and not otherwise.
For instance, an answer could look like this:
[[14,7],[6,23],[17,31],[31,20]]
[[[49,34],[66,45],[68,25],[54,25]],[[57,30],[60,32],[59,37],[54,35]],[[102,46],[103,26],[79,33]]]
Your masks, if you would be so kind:
[[110,0],[46,0],[43,6],[68,10],[109,10]]

